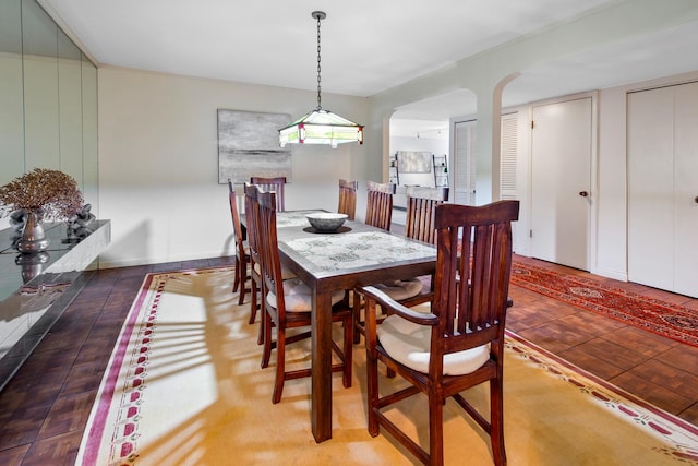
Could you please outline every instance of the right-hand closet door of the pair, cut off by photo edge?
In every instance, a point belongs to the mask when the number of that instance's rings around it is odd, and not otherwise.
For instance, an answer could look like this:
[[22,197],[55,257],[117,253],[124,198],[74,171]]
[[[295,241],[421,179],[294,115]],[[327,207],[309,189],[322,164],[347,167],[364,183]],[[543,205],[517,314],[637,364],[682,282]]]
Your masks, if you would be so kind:
[[674,96],[674,291],[698,296],[698,83]]

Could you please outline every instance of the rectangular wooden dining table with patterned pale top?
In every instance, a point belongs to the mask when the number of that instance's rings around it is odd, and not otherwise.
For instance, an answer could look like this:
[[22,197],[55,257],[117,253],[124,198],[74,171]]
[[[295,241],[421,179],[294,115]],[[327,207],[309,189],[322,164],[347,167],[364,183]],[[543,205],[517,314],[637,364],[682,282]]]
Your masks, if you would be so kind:
[[318,210],[277,212],[277,238],[282,264],[312,290],[311,428],[320,443],[332,439],[332,292],[430,275],[436,249],[361,222],[317,231],[311,212]]

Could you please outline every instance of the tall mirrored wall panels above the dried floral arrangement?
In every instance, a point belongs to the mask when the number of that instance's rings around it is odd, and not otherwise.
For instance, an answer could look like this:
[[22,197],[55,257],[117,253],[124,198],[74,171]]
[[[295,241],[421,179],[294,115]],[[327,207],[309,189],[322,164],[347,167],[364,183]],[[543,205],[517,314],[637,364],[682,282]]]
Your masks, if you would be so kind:
[[0,0],[0,186],[36,167],[75,178],[98,215],[97,68],[36,0]]

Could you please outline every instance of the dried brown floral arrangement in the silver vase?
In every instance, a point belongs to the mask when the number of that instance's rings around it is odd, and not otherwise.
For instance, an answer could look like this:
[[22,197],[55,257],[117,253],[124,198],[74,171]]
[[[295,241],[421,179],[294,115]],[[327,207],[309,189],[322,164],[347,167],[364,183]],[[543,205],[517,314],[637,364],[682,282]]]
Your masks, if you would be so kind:
[[35,168],[0,187],[0,217],[23,210],[40,212],[46,220],[61,220],[80,212],[83,194],[70,175]]

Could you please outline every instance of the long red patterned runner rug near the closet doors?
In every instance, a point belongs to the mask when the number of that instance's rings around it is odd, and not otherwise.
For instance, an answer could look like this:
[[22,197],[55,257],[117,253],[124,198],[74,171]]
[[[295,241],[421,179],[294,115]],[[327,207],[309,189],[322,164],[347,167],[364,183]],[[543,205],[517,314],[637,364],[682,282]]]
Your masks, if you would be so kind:
[[698,312],[695,310],[516,261],[512,284],[698,346]]

